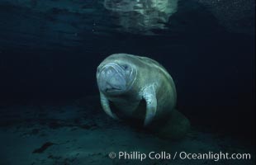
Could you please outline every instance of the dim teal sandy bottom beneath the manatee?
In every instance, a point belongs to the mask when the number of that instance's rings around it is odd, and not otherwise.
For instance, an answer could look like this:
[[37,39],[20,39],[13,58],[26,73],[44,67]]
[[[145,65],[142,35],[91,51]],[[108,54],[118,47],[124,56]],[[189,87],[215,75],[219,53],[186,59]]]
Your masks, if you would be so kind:
[[[255,164],[254,148],[231,137],[192,128],[185,139],[159,139],[111,120],[93,98],[62,106],[7,106],[0,112],[0,165]],[[211,158],[200,158],[209,152]],[[251,158],[216,161],[220,152]],[[184,158],[185,153],[199,157]]]

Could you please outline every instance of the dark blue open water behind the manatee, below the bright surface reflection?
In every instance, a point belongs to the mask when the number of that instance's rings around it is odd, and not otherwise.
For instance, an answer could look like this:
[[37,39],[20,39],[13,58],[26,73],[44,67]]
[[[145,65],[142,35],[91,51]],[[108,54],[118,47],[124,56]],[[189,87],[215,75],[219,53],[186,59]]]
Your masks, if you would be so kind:
[[[73,12],[70,5],[45,9],[37,1],[0,2],[0,106],[97,95],[95,74],[102,59],[137,54],[168,69],[178,109],[195,128],[253,141],[254,33],[230,31],[194,1],[180,2],[168,31],[122,33],[101,3],[75,2],[86,12]],[[236,28],[248,26],[254,16],[246,19]]]

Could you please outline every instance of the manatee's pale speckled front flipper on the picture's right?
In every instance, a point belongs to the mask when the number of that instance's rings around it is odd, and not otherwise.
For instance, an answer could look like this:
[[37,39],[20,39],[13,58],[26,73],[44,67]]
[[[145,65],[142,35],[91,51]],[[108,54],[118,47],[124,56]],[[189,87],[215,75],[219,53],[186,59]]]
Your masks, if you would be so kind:
[[154,115],[157,109],[157,99],[155,96],[154,86],[150,85],[143,91],[142,97],[146,101],[146,114],[144,120],[144,126],[149,125],[154,119]]

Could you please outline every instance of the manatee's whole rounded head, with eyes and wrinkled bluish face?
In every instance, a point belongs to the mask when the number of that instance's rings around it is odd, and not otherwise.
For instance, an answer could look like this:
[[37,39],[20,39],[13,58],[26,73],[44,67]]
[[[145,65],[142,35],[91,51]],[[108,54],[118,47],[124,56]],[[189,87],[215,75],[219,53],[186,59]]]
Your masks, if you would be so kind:
[[136,75],[129,59],[108,58],[97,67],[97,86],[106,95],[120,95],[130,90]]

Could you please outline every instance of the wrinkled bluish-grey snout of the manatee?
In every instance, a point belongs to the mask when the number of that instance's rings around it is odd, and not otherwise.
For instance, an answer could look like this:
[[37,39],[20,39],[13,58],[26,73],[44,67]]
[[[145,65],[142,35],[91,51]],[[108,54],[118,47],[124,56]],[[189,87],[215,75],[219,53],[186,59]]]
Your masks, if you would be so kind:
[[117,64],[106,64],[98,70],[98,87],[105,93],[124,91],[126,90],[125,76],[126,75]]

